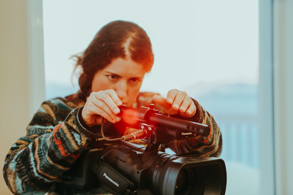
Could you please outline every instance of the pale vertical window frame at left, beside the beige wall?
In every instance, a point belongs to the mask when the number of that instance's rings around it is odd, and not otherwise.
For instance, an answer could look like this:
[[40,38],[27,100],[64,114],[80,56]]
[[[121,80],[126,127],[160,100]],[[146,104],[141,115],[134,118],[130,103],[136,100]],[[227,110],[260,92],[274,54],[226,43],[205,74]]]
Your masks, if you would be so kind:
[[45,100],[45,62],[42,1],[27,1],[29,117]]

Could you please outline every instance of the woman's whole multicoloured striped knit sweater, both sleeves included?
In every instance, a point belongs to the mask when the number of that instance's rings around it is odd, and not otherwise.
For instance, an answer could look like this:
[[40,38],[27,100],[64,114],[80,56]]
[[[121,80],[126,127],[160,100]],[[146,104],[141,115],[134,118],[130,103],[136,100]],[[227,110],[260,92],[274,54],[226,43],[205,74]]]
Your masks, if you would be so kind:
[[[154,103],[153,95],[141,92],[133,106],[149,107]],[[201,156],[218,157],[222,150],[219,127],[212,115],[193,101],[197,111],[188,120],[209,125],[209,135],[176,140],[167,147],[176,153],[197,151]],[[98,189],[72,187],[60,180],[86,149],[91,138],[98,134],[98,130],[88,130],[83,125],[80,114],[85,102],[86,97],[78,92],[42,103],[27,126],[26,135],[12,145],[5,158],[3,176],[13,194],[105,194]],[[155,104],[155,109],[161,108]]]

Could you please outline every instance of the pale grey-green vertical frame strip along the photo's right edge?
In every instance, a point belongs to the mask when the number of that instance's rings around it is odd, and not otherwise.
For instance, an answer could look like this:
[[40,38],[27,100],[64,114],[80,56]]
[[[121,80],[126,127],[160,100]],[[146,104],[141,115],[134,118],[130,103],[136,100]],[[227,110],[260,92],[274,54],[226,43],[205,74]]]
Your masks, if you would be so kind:
[[271,3],[276,194],[293,194],[293,1],[274,0]]

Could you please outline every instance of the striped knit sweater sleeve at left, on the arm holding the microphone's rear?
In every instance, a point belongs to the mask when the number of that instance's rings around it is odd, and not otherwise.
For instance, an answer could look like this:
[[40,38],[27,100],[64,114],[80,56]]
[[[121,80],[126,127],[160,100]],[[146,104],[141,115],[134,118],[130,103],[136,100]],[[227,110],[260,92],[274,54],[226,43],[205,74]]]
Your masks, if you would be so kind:
[[[76,161],[95,135],[81,125],[81,108],[72,110],[62,102],[42,104],[26,136],[13,144],[5,158],[3,176],[13,194],[45,194]],[[69,113],[65,120],[60,118],[62,112]]]

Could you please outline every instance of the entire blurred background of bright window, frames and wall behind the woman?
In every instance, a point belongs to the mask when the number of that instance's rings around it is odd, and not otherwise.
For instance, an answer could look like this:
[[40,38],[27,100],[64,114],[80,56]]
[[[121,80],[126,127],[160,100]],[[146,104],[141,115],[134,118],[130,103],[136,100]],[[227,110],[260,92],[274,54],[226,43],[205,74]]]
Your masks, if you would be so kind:
[[141,90],[186,91],[218,122],[226,194],[293,194],[290,8],[289,0],[0,0],[0,159],[42,101],[78,91],[69,58],[106,23],[129,20],[155,55]]

